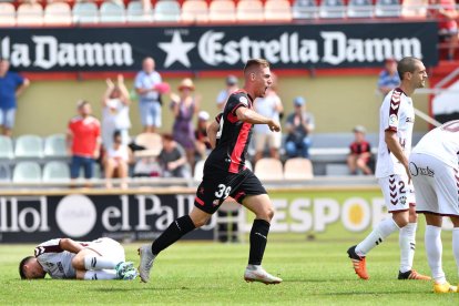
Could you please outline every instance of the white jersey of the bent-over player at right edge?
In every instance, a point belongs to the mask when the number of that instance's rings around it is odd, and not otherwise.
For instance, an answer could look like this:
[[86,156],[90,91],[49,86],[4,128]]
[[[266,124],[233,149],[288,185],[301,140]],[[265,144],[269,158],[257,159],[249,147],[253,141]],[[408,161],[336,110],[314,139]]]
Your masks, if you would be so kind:
[[412,150],[436,157],[456,167],[459,154],[459,120],[453,120],[427,133]]

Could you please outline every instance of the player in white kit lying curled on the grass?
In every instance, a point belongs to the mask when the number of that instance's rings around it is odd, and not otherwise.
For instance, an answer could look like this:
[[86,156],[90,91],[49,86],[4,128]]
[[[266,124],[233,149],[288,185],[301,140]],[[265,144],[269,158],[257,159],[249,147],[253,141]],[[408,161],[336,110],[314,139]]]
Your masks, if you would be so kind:
[[19,264],[22,279],[44,278],[47,273],[58,279],[134,279],[137,272],[125,262],[124,248],[111,238],[75,242],[57,238],[35,247],[34,256]]

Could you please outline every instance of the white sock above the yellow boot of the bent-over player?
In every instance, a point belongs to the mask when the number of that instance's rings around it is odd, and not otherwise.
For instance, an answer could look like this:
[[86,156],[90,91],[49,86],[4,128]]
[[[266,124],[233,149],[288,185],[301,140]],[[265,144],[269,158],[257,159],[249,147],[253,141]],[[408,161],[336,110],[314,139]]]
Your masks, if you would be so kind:
[[441,266],[441,253],[443,245],[441,243],[441,227],[426,225],[425,234],[426,254],[429,267],[432,273],[434,280],[437,284],[446,282],[445,272]]

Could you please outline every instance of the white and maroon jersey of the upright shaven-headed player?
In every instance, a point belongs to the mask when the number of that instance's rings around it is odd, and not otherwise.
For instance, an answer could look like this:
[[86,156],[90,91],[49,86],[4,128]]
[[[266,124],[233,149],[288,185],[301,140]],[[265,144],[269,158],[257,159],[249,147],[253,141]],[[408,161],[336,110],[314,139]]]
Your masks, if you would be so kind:
[[384,99],[379,110],[379,146],[376,177],[406,173],[404,165],[389,151],[385,141],[385,132],[397,132],[398,141],[408,157],[411,151],[414,123],[415,109],[411,98],[406,95],[399,88],[391,90]]

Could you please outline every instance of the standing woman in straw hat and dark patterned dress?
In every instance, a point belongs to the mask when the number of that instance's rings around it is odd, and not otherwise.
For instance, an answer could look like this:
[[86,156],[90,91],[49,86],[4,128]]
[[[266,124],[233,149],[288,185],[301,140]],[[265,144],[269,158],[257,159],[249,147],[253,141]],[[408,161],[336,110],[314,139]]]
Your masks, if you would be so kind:
[[195,136],[193,116],[200,110],[200,99],[193,95],[194,84],[191,79],[183,79],[178,86],[180,94],[171,94],[171,109],[175,121],[172,128],[174,140],[186,151],[190,165],[194,165]]

